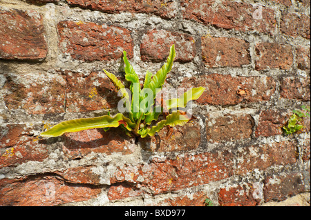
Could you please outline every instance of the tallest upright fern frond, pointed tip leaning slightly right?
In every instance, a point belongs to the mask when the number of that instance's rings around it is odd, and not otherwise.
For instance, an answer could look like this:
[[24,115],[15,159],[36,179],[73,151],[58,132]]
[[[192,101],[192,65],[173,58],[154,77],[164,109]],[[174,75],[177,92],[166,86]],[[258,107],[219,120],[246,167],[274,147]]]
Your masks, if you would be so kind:
[[158,72],[152,77],[150,83],[147,85],[147,88],[150,88],[153,92],[153,99],[156,98],[156,89],[162,89],[162,85],[167,78],[167,73],[171,71],[173,66],[173,60],[176,57],[175,46],[172,45],[169,52],[169,57],[167,58],[167,62],[164,63],[162,68],[158,70]]

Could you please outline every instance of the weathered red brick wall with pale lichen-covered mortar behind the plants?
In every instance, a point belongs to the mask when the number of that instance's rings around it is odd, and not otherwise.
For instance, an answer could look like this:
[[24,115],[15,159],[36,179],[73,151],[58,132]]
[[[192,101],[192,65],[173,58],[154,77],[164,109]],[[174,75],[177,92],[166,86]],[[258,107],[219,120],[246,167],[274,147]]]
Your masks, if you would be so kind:
[[[310,192],[309,1],[0,0],[0,206],[258,206]],[[194,121],[39,138],[117,112],[102,68],[143,78],[176,45],[167,88],[203,86]]]

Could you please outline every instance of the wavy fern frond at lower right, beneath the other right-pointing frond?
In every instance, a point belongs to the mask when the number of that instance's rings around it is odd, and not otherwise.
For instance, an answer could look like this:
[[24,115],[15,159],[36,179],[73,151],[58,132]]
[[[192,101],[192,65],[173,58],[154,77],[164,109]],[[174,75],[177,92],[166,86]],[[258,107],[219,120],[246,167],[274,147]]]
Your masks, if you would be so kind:
[[156,126],[147,128],[147,132],[144,132],[144,134],[141,137],[144,138],[147,136],[147,134],[149,134],[149,136],[153,136],[154,134],[156,134],[156,132],[161,130],[164,126],[171,126],[171,127],[184,126],[185,123],[187,123],[190,119],[191,117],[188,114],[186,114],[186,112],[180,112],[180,111],[173,112],[169,114],[166,119],[158,122]]

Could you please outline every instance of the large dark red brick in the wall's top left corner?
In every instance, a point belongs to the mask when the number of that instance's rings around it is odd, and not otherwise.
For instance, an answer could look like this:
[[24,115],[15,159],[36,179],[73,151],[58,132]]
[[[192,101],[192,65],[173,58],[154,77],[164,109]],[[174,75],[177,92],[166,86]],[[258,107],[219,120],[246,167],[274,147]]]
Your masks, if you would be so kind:
[[47,46],[41,14],[0,7],[0,59],[43,60]]

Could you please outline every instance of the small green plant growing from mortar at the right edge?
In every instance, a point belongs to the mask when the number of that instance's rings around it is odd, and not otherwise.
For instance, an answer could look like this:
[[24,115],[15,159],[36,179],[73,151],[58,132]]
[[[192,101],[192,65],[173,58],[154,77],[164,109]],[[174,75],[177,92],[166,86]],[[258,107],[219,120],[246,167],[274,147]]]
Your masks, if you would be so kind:
[[294,114],[288,120],[287,126],[283,126],[283,130],[285,134],[294,134],[295,132],[299,132],[299,130],[303,129],[303,125],[301,121],[303,117],[310,117],[310,107],[301,106],[305,112],[301,112],[299,110],[294,110]]

